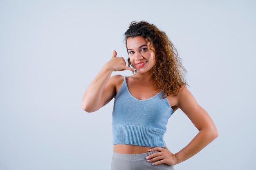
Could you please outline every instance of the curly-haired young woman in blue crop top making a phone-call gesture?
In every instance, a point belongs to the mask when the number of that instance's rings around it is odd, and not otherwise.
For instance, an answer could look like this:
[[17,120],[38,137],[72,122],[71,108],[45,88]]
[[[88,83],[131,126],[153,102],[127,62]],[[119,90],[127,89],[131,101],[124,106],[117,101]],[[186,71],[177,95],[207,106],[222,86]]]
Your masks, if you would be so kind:
[[[218,131],[186,88],[186,69],[166,33],[146,21],[133,21],[124,35],[128,66],[113,50],[110,61],[86,89],[82,108],[95,112],[115,97],[111,170],[173,170],[218,137]],[[124,70],[133,75],[110,77],[113,71]],[[172,153],[163,137],[169,117],[179,108],[199,132],[182,150]]]

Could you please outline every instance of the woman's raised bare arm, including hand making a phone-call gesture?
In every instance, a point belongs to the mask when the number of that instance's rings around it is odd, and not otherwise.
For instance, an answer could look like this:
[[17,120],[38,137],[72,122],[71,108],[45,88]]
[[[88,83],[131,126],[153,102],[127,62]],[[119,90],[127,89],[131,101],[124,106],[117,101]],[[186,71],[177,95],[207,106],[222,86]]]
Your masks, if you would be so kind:
[[116,93],[117,76],[112,77],[113,71],[133,71],[134,68],[126,66],[123,57],[116,57],[117,52],[113,51],[111,60],[104,64],[101,71],[87,87],[82,100],[82,108],[86,112],[95,112],[110,102]]

